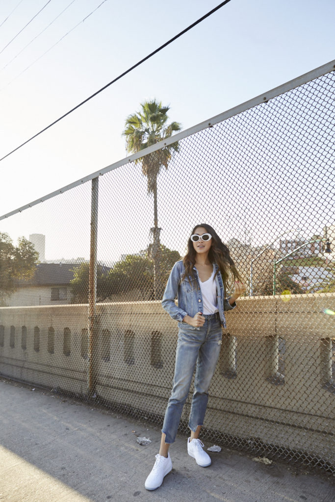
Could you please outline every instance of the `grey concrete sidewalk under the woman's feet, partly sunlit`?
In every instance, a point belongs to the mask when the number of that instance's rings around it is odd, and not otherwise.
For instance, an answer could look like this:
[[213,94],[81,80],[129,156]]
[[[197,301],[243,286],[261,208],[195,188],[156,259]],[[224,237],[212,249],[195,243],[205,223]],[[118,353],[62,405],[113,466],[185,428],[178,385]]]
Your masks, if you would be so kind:
[[[171,447],[172,472],[147,491],[159,428],[32,389],[0,380],[1,501],[335,501],[325,475],[264,465],[227,448],[210,453],[212,465],[201,468],[187,455],[184,437]],[[152,443],[140,446],[137,436]]]

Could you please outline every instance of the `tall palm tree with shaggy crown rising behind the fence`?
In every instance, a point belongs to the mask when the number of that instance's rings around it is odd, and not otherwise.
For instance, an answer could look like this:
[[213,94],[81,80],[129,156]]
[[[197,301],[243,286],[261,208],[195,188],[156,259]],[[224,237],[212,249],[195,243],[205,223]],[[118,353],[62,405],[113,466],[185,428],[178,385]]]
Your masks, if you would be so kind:
[[[180,131],[179,122],[167,124],[169,106],[162,106],[161,101],[153,99],[141,103],[141,110],[129,115],[126,119],[125,130],[126,148],[129,153],[137,153],[155,143],[170,138],[173,132]],[[162,167],[168,168],[169,161],[175,152],[178,152],[178,142],[172,143],[152,154],[137,159],[141,163],[142,172],[147,177],[148,193],[154,196],[154,226],[151,228],[153,235],[152,258],[154,262],[154,290],[155,298],[161,296],[160,280],[160,231],[158,227],[157,211],[157,177]]]

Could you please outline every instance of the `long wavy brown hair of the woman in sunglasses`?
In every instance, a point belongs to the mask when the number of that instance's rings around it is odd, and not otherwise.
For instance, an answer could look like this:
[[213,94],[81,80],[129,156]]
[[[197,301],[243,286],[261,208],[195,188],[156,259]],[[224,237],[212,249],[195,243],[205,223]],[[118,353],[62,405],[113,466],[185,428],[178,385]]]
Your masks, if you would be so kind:
[[[200,223],[199,225],[195,225],[193,228],[191,235],[195,232],[195,230],[202,226],[206,232],[210,233],[211,238],[211,246],[208,252],[208,260],[211,264],[216,263],[218,266],[218,270],[221,273],[222,281],[224,283],[225,290],[228,290],[229,279],[233,278],[234,281],[240,281],[240,275],[237,271],[235,263],[233,262],[231,255],[229,253],[229,249],[224,244],[220,237],[215,232],[214,228],[206,223]],[[189,277],[191,280],[195,281],[195,275],[193,271],[193,267],[195,265],[195,257],[196,250],[194,249],[193,242],[191,241],[191,237],[189,237],[187,242],[187,253],[184,256],[183,264],[185,267],[185,273],[182,277],[184,280],[186,277]],[[217,273],[217,272],[216,272]]]

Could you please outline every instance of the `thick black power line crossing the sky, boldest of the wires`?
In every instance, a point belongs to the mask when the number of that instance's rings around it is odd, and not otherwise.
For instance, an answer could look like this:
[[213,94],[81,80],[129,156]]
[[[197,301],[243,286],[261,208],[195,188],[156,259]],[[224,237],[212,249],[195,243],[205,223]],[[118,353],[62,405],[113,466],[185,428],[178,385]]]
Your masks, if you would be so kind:
[[61,117],[57,118],[57,120],[54,120],[51,124],[49,124],[49,126],[45,127],[39,133],[37,133],[34,136],[32,136],[31,138],[29,138],[29,140],[25,141],[20,146],[18,146],[17,148],[15,148],[11,152],[9,152],[7,155],[5,155],[4,157],[2,157],[0,159],[0,162],[3,161],[4,159],[6,159],[7,157],[9,157],[10,155],[12,155],[14,152],[16,152],[17,150],[19,150],[20,148],[22,148],[24,145],[27,145],[27,143],[29,143],[30,141],[32,141],[35,138],[37,138],[37,136],[39,136],[40,134],[42,134],[45,131],[47,131],[48,129],[50,129],[57,122],[59,122],[60,120],[62,120],[63,118],[65,118],[67,115],[69,115],[70,113],[72,113],[74,110],[76,110],[77,108],[79,108],[83,104],[87,103],[87,101],[89,101],[90,99],[92,99],[93,97],[95,97],[97,94],[99,94],[100,92],[102,92],[104,89],[106,89],[107,87],[109,87],[111,84],[114,84],[115,82],[117,82],[118,80],[120,80],[122,77],[124,77],[125,75],[127,75],[128,73],[130,73],[132,70],[134,70],[135,68],[137,68],[138,66],[140,66],[142,63],[144,63],[145,61],[147,61],[149,58],[151,58],[152,56],[154,56],[155,54],[157,54],[159,51],[161,51],[162,49],[164,49],[165,47],[167,47],[169,44],[171,44],[172,42],[174,42],[175,40],[177,40],[177,38],[179,38],[182,35],[184,35],[184,33],[188,32],[189,30],[191,30],[192,28],[194,28],[194,26],[196,26],[199,23],[201,23],[201,21],[203,21],[204,19],[208,18],[211,14],[213,14],[216,11],[218,11],[221,7],[224,7],[230,1],[231,0],[225,0],[225,2],[222,2],[221,4],[219,4],[218,6],[216,6],[214,9],[212,9],[209,12],[207,12],[207,14],[205,14],[204,16],[202,16],[201,18],[199,18],[197,21],[195,21],[194,23],[192,23],[191,25],[189,25],[183,31],[181,31],[180,33],[178,33],[178,35],[175,35],[173,38],[171,38],[170,40],[168,40],[167,42],[165,42],[165,44],[161,45],[156,50],[154,50],[153,52],[151,52],[150,54],[148,54],[148,56],[146,56],[145,58],[141,59],[141,61],[139,61],[135,65],[131,66],[128,70],[126,70],[123,73],[121,73],[121,75],[119,75],[118,77],[116,77],[114,80],[111,80],[110,82],[108,82],[108,84],[104,85],[103,87],[101,87],[101,89],[99,89],[98,91],[94,92],[94,94],[92,94],[88,98],[84,99],[84,101],[81,101],[81,103],[79,103],[76,106],[74,106],[74,108],[71,108],[69,111],[67,111],[66,113],[64,113],[64,115],[62,115]]

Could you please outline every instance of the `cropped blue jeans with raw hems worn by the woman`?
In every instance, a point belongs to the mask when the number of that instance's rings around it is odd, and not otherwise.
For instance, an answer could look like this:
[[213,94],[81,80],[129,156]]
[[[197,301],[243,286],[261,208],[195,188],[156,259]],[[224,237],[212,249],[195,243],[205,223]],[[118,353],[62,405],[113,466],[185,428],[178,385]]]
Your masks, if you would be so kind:
[[179,325],[173,388],[162,429],[165,434],[165,443],[173,443],[176,439],[195,365],[194,393],[188,427],[195,432],[198,425],[203,425],[208,402],[208,389],[215,371],[222,340],[222,327],[218,313],[204,317],[204,325],[199,329],[192,329],[188,324],[180,323]]

